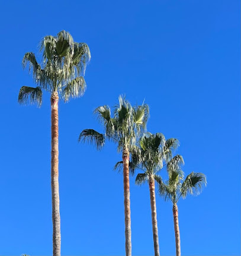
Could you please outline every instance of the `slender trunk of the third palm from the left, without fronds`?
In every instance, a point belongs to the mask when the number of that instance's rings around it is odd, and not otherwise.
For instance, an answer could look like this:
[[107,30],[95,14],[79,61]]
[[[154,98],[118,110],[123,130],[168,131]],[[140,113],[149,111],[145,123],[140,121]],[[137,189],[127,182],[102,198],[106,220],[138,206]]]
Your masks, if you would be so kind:
[[150,189],[150,208],[152,209],[152,232],[155,256],[160,256],[159,241],[158,241],[158,220],[156,218],[156,196],[155,196],[155,180],[153,177],[149,179]]

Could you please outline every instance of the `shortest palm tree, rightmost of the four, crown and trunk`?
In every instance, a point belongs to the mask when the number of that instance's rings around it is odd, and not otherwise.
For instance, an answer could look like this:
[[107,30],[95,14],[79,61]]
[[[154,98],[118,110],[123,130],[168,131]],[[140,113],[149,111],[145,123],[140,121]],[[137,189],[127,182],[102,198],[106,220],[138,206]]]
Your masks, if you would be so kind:
[[176,256],[181,256],[180,246],[180,232],[178,224],[178,200],[186,198],[187,194],[200,194],[203,185],[207,184],[206,177],[200,172],[191,172],[184,180],[184,172],[182,172],[180,166],[184,164],[182,156],[176,155],[168,164],[166,169],[168,170],[168,182],[163,182],[159,179],[159,194],[165,198],[165,200],[171,200],[173,207],[173,221],[175,230],[175,242],[176,242]]

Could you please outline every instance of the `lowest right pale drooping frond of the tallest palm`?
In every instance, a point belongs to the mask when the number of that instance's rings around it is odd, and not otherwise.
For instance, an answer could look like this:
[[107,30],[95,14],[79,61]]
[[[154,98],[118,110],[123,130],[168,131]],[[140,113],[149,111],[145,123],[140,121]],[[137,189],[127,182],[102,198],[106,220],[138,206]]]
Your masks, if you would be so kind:
[[70,97],[81,97],[86,89],[85,79],[83,77],[76,77],[71,80],[62,91],[62,97],[67,102]]

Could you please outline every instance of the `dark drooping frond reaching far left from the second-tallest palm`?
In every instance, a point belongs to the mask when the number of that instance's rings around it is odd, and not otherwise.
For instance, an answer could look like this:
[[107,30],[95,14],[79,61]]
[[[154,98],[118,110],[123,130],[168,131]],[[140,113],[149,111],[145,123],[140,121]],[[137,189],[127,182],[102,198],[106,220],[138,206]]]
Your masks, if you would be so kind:
[[79,135],[79,142],[92,143],[97,147],[97,150],[101,150],[105,143],[105,136],[94,129],[84,129]]

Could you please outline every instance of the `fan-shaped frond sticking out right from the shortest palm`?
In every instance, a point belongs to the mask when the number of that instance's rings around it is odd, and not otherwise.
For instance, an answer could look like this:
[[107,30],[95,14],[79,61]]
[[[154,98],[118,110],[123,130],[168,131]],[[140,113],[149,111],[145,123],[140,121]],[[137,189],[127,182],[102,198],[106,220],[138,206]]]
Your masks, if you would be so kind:
[[207,185],[207,179],[203,173],[191,172],[181,186],[181,195],[183,198],[187,194],[198,195],[202,191],[203,186]]

